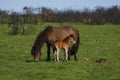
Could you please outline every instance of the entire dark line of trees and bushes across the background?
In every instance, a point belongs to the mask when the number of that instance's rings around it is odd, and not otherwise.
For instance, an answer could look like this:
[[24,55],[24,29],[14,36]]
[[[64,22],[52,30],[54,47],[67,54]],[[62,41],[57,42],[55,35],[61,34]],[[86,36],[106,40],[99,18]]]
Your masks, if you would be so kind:
[[[57,10],[51,8],[23,7],[23,12],[7,11],[0,9],[0,24],[8,24],[12,34],[26,34],[32,32],[41,21],[44,22],[79,22],[84,24],[120,24],[120,7],[96,7],[94,10]],[[25,28],[25,25],[29,27]]]

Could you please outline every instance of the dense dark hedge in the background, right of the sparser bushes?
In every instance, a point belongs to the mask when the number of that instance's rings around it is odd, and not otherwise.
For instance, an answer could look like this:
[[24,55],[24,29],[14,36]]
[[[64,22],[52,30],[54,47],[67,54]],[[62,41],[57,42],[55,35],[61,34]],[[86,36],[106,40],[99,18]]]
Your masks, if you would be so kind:
[[85,8],[79,10],[57,11],[42,8],[41,19],[48,22],[80,22],[84,24],[120,24],[120,7],[96,7],[95,10]]

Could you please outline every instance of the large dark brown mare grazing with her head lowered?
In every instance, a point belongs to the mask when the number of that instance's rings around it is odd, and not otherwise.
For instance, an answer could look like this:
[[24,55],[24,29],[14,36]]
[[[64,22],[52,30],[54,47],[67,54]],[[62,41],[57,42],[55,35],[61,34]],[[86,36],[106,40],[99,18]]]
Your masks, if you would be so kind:
[[31,53],[34,56],[34,61],[39,61],[39,58],[42,54],[41,48],[44,45],[44,43],[47,44],[47,60],[50,60],[50,47],[52,47],[53,50],[55,50],[55,48],[53,47],[53,43],[56,40],[63,40],[71,34],[75,37],[76,43],[71,47],[69,53],[71,55],[74,55],[74,59],[77,60],[76,52],[78,50],[80,42],[79,31],[71,26],[48,26],[37,36],[35,43],[31,49]]

